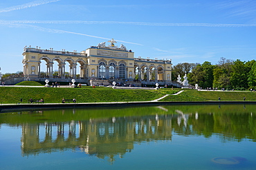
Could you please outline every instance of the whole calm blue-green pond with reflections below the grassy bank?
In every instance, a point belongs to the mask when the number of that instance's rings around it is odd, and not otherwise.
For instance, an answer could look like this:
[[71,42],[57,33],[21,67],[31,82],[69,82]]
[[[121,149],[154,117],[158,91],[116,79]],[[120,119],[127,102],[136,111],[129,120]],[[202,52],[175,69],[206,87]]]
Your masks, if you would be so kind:
[[256,105],[0,114],[0,169],[256,169]]

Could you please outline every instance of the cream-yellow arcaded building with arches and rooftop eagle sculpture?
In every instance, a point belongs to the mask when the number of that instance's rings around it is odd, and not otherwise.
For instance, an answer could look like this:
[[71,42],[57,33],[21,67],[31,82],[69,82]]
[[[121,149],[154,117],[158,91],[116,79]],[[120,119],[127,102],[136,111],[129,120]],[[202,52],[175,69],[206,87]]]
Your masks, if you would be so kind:
[[[71,82],[87,85],[172,85],[172,61],[134,58],[125,45],[116,46],[113,39],[91,46],[82,52],[42,50],[24,47],[24,79],[29,81]],[[44,62],[45,61],[45,62]],[[44,65],[44,63],[46,65]],[[53,70],[57,64],[57,70]],[[41,72],[46,67],[46,72]],[[55,66],[56,67],[56,66]],[[175,83],[176,84],[176,83]]]

